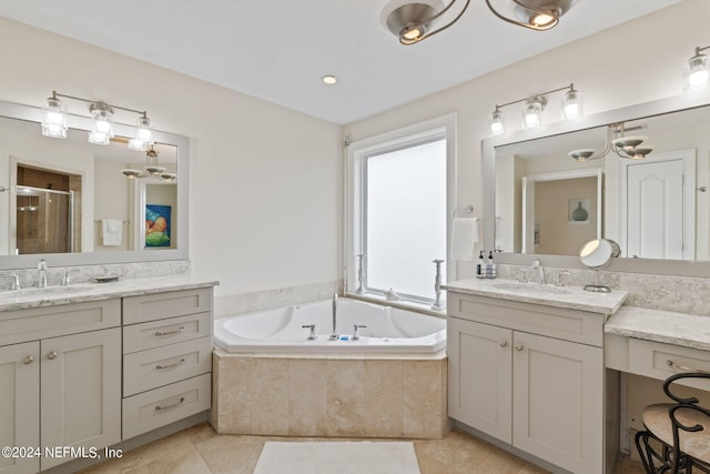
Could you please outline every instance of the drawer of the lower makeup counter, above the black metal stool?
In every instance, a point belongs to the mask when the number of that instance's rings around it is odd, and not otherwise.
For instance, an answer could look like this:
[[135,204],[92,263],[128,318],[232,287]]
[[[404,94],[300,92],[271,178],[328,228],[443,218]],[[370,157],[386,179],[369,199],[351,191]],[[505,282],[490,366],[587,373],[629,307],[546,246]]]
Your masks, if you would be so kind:
[[[666,380],[682,372],[710,372],[710,352],[661,342],[629,339],[629,372]],[[708,380],[686,380],[682,385],[710,391]]]

